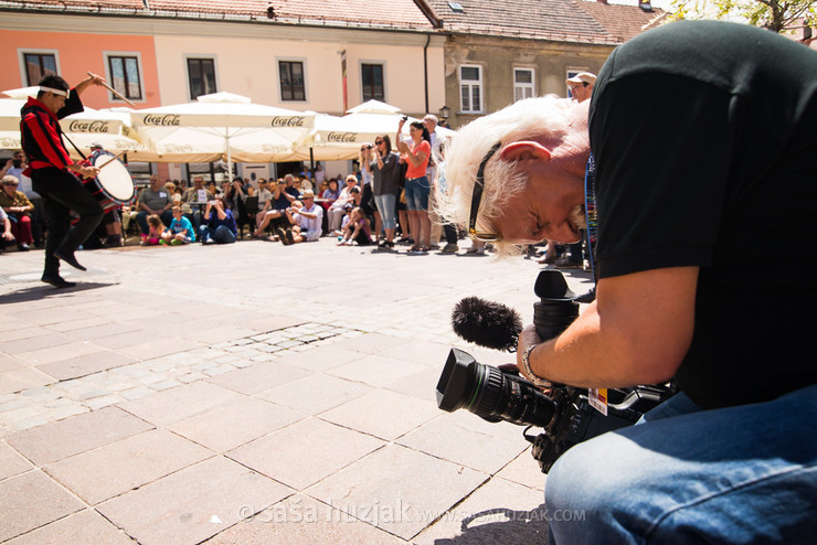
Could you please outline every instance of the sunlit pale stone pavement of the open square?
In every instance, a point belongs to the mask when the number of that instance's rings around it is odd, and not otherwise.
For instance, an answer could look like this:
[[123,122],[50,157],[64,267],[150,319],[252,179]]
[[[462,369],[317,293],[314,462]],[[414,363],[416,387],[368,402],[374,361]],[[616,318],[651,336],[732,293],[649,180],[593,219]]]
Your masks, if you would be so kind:
[[523,428],[434,396],[452,345],[513,361],[450,310],[530,323],[534,261],[329,238],[77,256],[67,290],[42,250],[0,256],[0,542],[547,543]]

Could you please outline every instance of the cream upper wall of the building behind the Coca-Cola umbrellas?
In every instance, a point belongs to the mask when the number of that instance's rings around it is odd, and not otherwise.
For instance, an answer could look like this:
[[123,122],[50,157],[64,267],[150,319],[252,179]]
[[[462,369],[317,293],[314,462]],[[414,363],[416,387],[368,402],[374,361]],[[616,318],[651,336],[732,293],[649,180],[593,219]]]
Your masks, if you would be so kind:
[[[187,25],[187,23],[183,23]],[[162,25],[163,26],[163,25]],[[298,110],[342,115],[341,55],[347,52],[348,107],[361,104],[361,63],[384,66],[385,99],[410,114],[425,111],[423,49],[426,35],[396,32],[304,29],[299,36],[270,32],[246,24],[197,23],[166,32],[157,29],[156,50],[162,103],[189,100],[189,56],[215,60],[216,86],[250,96],[254,101]],[[212,32],[211,32],[212,31]],[[443,36],[433,36],[427,47],[428,104],[436,111],[445,101]],[[279,60],[304,62],[307,99],[282,100]]]

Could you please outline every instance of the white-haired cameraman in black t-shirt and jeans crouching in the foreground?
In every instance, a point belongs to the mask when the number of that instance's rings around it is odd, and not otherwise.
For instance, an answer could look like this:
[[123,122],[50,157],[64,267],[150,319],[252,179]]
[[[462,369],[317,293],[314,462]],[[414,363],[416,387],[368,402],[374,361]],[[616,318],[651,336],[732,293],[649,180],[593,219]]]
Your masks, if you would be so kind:
[[559,459],[549,510],[583,517],[551,521],[551,543],[813,541],[817,55],[746,25],[672,23],[619,46],[590,103],[475,120],[437,195],[500,250],[574,243],[592,151],[597,300],[555,340],[526,329],[519,366],[541,386],[675,377],[682,392]]

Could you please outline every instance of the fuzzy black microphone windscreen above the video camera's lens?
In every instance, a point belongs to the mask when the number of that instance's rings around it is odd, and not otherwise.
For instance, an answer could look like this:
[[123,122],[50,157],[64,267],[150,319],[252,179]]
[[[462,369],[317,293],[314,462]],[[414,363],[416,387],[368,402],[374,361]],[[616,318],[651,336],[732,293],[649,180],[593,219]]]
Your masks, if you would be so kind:
[[516,310],[501,302],[466,297],[452,311],[452,327],[468,342],[512,352],[522,332],[522,319]]

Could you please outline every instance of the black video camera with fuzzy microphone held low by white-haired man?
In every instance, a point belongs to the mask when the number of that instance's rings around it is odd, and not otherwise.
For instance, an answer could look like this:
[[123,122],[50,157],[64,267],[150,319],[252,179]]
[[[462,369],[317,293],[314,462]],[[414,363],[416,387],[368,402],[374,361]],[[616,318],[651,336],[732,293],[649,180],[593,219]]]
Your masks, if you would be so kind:
[[[575,293],[554,269],[539,274],[534,292],[540,298],[533,304],[537,333],[543,341],[553,339],[579,316]],[[477,298],[460,301],[453,322],[455,332],[466,341],[509,351],[522,330],[514,310]],[[675,393],[671,384],[609,388],[606,403],[598,403],[598,395],[585,388],[567,385],[544,394],[516,370],[484,365],[457,349],[448,353],[436,387],[437,406],[443,410],[453,413],[465,407],[490,423],[527,425],[522,436],[533,445],[531,453],[544,473],[574,445],[635,424]],[[527,431],[533,426],[544,428],[544,432],[529,436]]]

